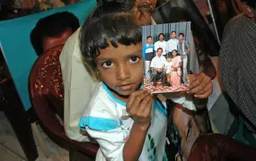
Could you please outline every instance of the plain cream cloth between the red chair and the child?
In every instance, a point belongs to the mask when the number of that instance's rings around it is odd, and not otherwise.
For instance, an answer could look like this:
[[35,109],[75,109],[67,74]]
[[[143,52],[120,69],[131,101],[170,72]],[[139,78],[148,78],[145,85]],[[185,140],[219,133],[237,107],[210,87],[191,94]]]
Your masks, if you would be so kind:
[[84,106],[93,95],[99,82],[94,80],[85,69],[79,48],[79,31],[67,39],[59,56],[64,83],[64,127],[66,136],[71,140],[89,141],[87,136],[80,134],[78,122],[83,114]]

